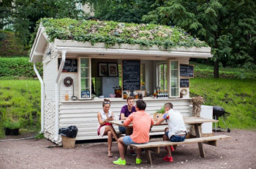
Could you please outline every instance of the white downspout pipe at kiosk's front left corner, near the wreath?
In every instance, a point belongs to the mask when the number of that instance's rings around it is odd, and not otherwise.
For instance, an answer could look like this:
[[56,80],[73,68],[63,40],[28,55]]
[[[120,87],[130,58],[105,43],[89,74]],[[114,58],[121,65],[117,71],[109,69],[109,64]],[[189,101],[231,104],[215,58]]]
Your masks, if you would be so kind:
[[59,140],[59,78],[61,77],[61,72],[64,67],[66,60],[66,50],[61,51],[61,65],[59,66],[59,71],[56,76],[55,81],[55,138],[54,141]]

